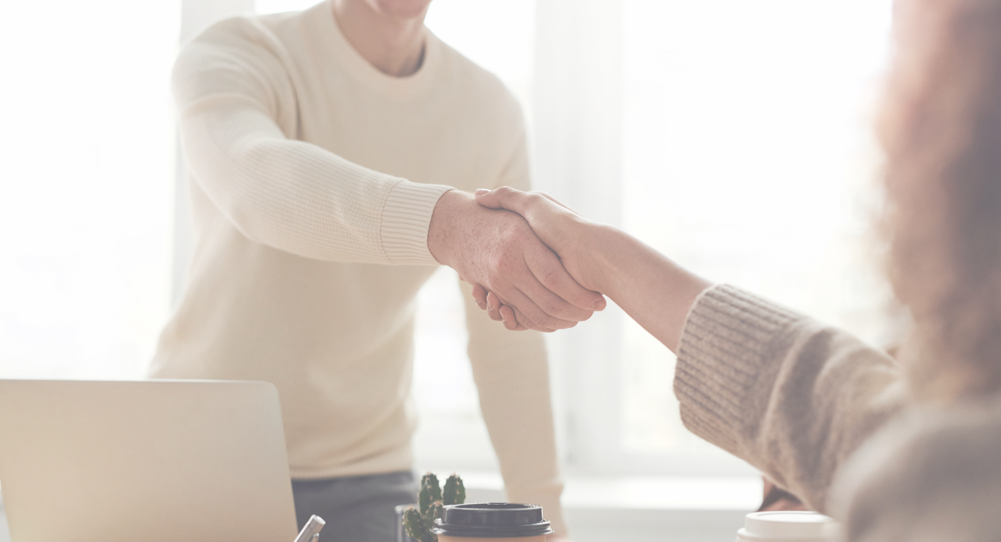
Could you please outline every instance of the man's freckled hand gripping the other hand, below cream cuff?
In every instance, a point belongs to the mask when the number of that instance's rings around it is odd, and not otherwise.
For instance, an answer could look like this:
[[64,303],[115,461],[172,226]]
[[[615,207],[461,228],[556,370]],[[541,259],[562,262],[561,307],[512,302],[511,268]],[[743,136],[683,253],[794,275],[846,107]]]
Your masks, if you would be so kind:
[[509,329],[566,329],[606,306],[601,294],[571,277],[524,218],[482,207],[464,192],[451,190],[438,199],[427,248],[462,280],[489,290],[510,307],[505,314]]

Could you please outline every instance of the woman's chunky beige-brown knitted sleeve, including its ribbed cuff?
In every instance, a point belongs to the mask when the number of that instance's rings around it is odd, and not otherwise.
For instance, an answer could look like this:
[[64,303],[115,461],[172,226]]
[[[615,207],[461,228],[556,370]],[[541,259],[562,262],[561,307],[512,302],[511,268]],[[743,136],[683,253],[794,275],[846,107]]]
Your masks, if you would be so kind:
[[675,394],[692,432],[822,512],[835,472],[906,399],[883,352],[732,286],[692,308]]

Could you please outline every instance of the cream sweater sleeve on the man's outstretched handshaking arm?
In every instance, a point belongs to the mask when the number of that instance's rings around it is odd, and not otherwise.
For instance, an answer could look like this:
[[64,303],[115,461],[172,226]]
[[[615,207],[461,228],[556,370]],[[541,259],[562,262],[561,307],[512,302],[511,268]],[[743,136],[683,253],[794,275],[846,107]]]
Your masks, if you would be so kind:
[[184,47],[173,89],[195,182],[252,241],[318,260],[437,264],[427,228],[451,187],[372,171],[296,140],[288,62],[277,38],[247,18],[218,23]]

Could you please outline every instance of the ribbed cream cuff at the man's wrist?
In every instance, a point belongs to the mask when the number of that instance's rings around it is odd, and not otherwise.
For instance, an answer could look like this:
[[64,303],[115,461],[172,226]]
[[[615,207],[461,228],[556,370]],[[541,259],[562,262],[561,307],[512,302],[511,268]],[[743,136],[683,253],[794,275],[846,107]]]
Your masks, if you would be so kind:
[[397,265],[438,265],[427,249],[427,228],[441,194],[454,190],[440,184],[400,181],[382,207],[382,250]]

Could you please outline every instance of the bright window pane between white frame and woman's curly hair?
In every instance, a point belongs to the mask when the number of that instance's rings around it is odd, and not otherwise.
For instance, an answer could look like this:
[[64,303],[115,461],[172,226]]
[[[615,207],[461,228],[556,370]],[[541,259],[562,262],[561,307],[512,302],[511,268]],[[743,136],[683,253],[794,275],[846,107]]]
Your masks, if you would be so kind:
[[[885,345],[868,235],[891,2],[624,0],[623,226]],[[869,263],[867,263],[869,262]],[[674,358],[625,319],[622,453],[691,458]]]

